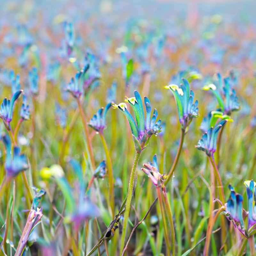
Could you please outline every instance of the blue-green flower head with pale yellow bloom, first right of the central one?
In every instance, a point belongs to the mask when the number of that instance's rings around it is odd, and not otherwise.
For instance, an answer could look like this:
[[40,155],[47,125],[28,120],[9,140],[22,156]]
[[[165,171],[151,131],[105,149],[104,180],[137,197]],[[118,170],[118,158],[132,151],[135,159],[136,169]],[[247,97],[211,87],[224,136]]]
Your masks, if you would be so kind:
[[180,87],[176,84],[165,86],[165,89],[170,89],[177,103],[179,121],[181,129],[186,131],[186,128],[191,123],[194,117],[198,116],[198,101],[194,103],[194,92],[189,89],[188,80],[182,78],[183,84]]

